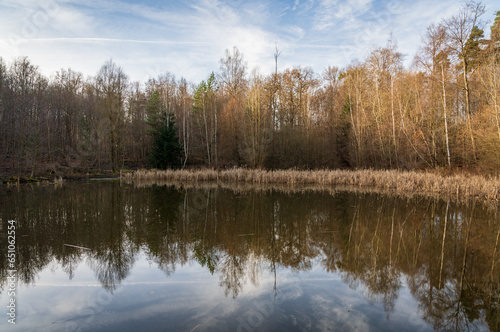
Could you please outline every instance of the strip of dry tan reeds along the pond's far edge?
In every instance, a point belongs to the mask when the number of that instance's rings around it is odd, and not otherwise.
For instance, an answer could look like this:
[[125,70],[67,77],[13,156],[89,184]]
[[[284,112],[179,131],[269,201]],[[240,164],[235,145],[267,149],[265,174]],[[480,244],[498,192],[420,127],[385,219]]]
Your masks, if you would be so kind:
[[458,199],[500,199],[500,178],[477,175],[443,176],[430,172],[383,170],[139,170],[123,173],[122,180],[171,182],[244,182],[253,184],[287,184],[351,186],[390,190],[395,194],[455,196]]

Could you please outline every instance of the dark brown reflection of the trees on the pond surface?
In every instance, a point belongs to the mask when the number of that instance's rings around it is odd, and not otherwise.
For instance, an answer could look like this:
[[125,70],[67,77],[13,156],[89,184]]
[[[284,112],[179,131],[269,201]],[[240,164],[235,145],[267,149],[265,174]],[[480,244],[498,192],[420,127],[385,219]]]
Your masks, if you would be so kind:
[[[23,284],[35,284],[51,264],[69,279],[87,264],[112,293],[144,252],[166,277],[197,262],[218,277],[227,297],[237,298],[246,284],[258,285],[265,271],[278,294],[277,270],[319,266],[363,289],[369,302],[382,303],[387,317],[407,287],[435,330],[500,330],[500,221],[480,205],[116,182],[0,195],[2,230],[8,220],[17,221]],[[0,254],[5,292],[6,246]]]

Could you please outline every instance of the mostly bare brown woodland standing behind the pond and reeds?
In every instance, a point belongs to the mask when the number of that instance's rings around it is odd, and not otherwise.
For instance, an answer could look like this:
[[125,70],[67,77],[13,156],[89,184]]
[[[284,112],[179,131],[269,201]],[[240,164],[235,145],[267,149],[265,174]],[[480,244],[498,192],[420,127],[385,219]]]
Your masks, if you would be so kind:
[[[41,74],[0,58],[0,172],[133,168],[443,169],[500,174],[500,11],[468,2],[422,32],[405,66],[395,41],[322,73],[261,74],[226,50],[190,83],[131,82],[106,61],[93,77]],[[490,31],[487,31],[490,30]],[[489,37],[485,37],[489,35]],[[270,57],[271,58],[271,57]]]

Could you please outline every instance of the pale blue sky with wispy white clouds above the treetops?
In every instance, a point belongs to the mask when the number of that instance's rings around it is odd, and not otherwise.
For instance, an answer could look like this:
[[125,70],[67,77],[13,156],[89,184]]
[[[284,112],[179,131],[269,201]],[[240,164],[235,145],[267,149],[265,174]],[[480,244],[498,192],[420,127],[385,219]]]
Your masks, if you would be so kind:
[[[486,0],[485,31],[500,10]],[[170,72],[197,83],[237,47],[248,73],[363,61],[392,38],[405,64],[431,23],[458,12],[456,0],[0,0],[0,57],[28,56],[40,71],[95,75],[109,59],[130,81]]]

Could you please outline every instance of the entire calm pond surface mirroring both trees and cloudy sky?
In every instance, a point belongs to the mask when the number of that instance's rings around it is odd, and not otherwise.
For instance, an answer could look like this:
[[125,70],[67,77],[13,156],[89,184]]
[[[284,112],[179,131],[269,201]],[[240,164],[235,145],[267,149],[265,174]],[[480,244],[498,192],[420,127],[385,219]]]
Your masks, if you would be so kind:
[[499,331],[496,213],[333,190],[3,187],[0,330]]

